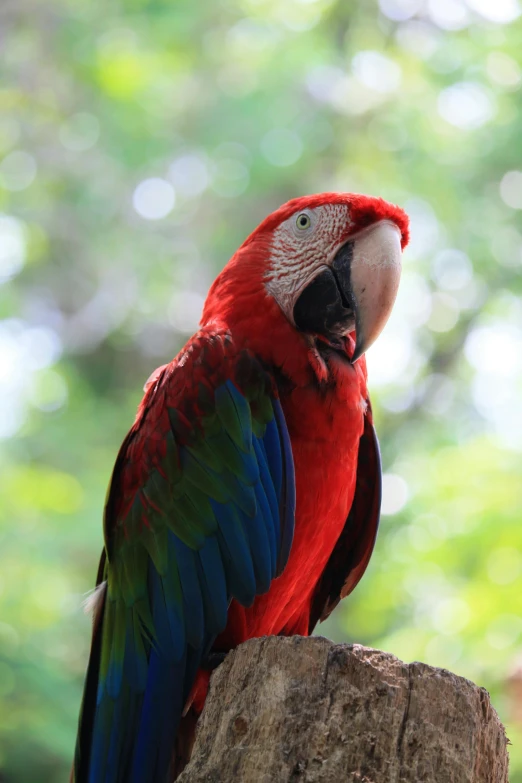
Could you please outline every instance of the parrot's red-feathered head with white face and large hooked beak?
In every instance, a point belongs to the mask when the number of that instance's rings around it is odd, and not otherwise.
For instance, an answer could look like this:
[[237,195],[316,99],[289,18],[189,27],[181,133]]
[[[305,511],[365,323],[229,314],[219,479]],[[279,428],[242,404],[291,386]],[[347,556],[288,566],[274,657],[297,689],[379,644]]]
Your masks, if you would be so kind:
[[325,360],[336,352],[355,363],[389,318],[407,242],[406,213],[383,199],[352,193],[293,199],[227,264],[203,321],[222,317],[246,338],[261,331],[272,341],[290,339],[291,329]]

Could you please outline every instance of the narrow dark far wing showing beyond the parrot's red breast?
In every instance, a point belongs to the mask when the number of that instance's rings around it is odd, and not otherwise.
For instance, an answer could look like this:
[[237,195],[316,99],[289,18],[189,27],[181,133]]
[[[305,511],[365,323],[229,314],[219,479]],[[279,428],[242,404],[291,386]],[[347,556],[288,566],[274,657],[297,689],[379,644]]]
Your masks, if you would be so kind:
[[355,495],[339,540],[330,555],[312,599],[309,633],[326,620],[342,598],[356,587],[370,561],[381,509],[381,457],[368,408],[359,441]]

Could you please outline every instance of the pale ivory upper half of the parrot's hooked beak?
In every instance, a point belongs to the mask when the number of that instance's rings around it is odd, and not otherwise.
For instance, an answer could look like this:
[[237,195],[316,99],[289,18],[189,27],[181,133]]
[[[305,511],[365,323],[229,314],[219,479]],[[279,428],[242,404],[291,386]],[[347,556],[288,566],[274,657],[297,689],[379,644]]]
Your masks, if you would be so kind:
[[375,342],[390,317],[401,277],[401,232],[395,223],[382,220],[352,241],[353,363]]

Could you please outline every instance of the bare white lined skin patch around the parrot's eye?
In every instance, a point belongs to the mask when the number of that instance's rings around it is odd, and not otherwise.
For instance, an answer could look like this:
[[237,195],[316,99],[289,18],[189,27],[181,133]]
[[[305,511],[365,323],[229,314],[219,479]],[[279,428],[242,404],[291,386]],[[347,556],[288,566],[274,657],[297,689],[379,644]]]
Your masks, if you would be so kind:
[[[305,228],[301,216],[309,218]],[[323,204],[294,212],[274,231],[266,288],[290,321],[297,295],[331,261],[350,223],[346,204]]]

